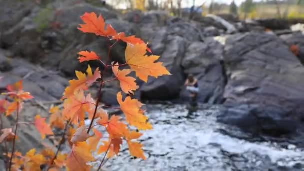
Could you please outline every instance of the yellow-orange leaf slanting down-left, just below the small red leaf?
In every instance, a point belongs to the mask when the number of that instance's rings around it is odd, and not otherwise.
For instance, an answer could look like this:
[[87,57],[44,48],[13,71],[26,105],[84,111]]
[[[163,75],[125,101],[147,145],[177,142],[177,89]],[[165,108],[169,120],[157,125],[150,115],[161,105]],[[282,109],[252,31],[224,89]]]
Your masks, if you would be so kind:
[[94,83],[98,78],[100,78],[100,72],[99,68],[96,68],[94,74],[92,73],[92,68],[88,65],[87,67],[87,75],[85,73],[76,71],[76,76],[78,80],[70,80],[69,86],[65,88],[64,93],[63,93],[63,99],[68,98],[70,96],[74,95],[75,91],[78,91],[80,89],[82,90],[87,90],[87,88]]

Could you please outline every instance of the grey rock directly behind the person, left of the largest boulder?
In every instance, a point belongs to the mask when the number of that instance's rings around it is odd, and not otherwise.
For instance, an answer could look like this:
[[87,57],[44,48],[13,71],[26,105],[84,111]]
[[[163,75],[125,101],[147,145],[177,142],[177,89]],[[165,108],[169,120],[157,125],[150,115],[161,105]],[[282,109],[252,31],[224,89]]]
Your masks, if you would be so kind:
[[[193,42],[187,48],[182,60],[184,73],[193,74],[198,79],[198,101],[204,103],[221,103],[225,86],[225,75],[221,59],[223,45],[213,38],[205,42]],[[189,93],[181,92],[181,97],[187,99]]]

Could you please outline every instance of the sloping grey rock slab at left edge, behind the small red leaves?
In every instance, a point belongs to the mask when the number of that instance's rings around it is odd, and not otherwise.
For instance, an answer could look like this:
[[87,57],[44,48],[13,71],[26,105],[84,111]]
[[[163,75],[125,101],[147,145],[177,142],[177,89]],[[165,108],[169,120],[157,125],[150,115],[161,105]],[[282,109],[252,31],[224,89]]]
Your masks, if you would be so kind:
[[5,57],[0,51],[0,62],[9,63],[10,69],[1,72],[0,89],[5,89],[7,84],[23,80],[25,91],[29,91],[35,100],[57,100],[62,97],[68,81],[41,67],[30,64],[24,59]]

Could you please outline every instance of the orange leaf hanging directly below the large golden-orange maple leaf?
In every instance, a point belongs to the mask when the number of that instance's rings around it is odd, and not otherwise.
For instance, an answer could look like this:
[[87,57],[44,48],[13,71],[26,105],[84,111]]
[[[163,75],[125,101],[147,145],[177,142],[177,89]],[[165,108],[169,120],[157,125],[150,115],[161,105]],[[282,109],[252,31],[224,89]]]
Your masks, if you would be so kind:
[[126,76],[129,73],[131,73],[132,71],[130,69],[119,70],[118,67],[119,67],[118,63],[115,63],[115,64],[112,63],[112,70],[120,82],[121,90],[124,93],[133,93],[133,91],[135,91],[137,88],[139,88],[139,86],[137,86],[137,84],[135,82],[135,80],[136,80],[135,78],[133,78],[131,76]]

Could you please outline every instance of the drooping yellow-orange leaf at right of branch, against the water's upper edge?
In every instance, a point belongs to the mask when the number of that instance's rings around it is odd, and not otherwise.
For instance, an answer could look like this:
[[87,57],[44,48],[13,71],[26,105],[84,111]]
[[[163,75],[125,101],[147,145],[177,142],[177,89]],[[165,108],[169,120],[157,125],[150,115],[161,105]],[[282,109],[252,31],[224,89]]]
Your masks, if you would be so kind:
[[140,107],[143,105],[137,99],[131,99],[127,96],[122,101],[121,92],[117,93],[117,101],[120,104],[120,108],[123,111],[126,121],[137,127],[140,130],[152,129],[152,125],[147,122],[147,117],[143,114],[143,110]]

